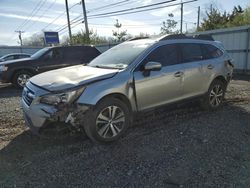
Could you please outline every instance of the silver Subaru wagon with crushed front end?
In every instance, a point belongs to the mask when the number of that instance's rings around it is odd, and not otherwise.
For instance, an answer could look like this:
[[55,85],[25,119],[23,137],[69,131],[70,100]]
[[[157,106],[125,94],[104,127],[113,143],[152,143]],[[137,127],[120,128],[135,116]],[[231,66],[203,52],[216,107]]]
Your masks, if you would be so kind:
[[110,142],[137,112],[188,99],[217,109],[232,72],[220,42],[184,35],[128,41],[86,66],[32,77],[23,90],[24,117],[38,133],[61,121],[84,128],[93,141]]

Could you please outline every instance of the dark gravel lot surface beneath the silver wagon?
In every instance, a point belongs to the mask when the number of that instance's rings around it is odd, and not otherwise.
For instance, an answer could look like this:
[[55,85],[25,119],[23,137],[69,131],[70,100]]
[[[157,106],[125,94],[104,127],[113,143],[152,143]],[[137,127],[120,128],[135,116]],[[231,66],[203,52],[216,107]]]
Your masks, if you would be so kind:
[[[248,78],[249,80],[249,78]],[[20,91],[0,86],[1,187],[249,187],[250,82],[233,80],[216,112],[195,104],[139,115],[125,137],[95,145],[79,133],[39,138]]]

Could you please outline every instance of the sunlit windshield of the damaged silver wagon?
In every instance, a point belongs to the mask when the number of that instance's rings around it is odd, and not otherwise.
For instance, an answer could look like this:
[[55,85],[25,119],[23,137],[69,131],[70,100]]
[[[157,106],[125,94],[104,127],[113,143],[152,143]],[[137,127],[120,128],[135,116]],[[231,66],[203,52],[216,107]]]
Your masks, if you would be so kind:
[[98,68],[124,69],[132,63],[138,55],[143,52],[152,42],[125,42],[115,46],[97,58],[92,60],[88,66]]

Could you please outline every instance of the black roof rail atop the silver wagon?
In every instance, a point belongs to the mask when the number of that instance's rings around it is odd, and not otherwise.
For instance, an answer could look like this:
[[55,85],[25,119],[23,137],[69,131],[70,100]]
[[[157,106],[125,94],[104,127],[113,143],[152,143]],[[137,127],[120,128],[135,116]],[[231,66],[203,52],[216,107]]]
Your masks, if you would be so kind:
[[160,41],[163,40],[171,40],[171,39],[199,39],[199,40],[211,40],[214,41],[213,37],[211,35],[185,35],[185,34],[173,34],[173,35],[167,35],[160,39]]

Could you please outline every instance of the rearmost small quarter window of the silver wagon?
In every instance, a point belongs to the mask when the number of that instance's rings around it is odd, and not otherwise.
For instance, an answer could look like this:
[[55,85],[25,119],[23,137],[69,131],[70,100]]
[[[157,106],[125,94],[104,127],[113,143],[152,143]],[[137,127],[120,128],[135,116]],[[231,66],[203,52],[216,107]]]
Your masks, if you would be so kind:
[[203,59],[213,59],[223,55],[223,52],[211,44],[201,44]]

